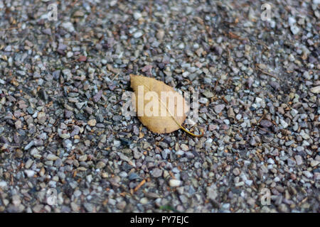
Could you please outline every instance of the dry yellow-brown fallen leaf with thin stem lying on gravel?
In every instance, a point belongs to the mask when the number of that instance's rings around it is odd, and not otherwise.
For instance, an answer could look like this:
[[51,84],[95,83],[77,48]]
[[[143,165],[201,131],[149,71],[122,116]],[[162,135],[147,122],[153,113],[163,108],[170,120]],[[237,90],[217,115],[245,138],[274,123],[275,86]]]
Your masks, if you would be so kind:
[[130,74],[131,87],[135,94],[135,111],[139,120],[154,133],[171,133],[183,129],[181,124],[186,120],[189,106],[186,100],[159,80]]

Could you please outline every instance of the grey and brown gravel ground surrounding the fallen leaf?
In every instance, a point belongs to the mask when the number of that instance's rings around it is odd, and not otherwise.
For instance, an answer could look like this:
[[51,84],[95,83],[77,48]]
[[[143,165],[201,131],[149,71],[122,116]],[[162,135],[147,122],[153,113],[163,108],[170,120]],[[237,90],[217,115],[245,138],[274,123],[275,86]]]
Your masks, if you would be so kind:
[[[49,21],[54,2],[0,0],[0,211],[320,211],[319,0],[269,1],[271,21],[243,0],[59,1]],[[122,116],[130,73],[199,92],[205,135]]]

